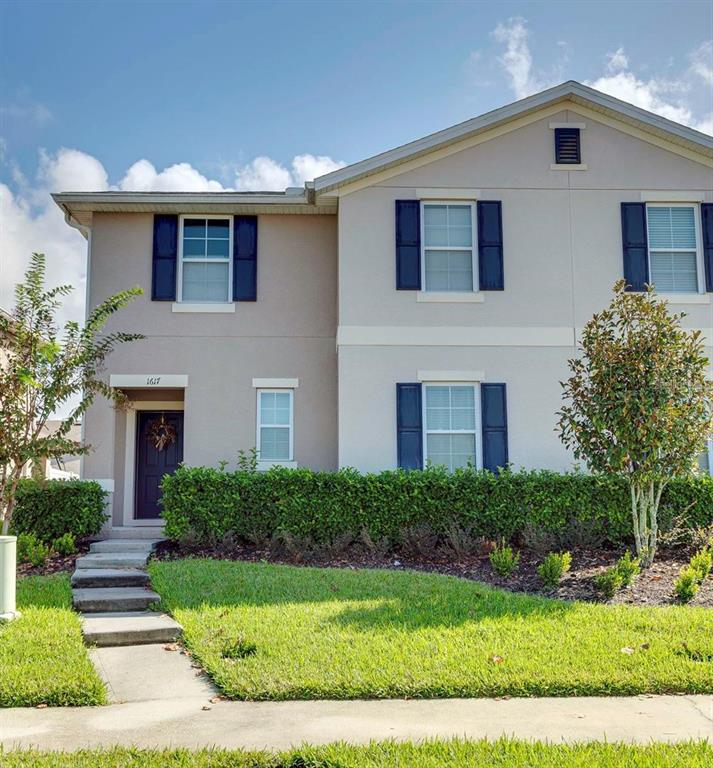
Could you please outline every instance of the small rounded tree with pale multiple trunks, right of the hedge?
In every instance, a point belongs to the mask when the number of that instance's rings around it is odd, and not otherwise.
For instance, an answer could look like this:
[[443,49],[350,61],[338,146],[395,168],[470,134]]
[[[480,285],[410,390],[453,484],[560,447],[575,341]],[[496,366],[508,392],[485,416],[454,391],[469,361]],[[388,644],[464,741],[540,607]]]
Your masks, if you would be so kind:
[[582,356],[562,384],[562,441],[592,472],[626,479],[644,567],[656,554],[661,494],[693,471],[713,427],[703,340],[682,317],[653,288],[628,293],[619,281],[609,307],[584,327]]

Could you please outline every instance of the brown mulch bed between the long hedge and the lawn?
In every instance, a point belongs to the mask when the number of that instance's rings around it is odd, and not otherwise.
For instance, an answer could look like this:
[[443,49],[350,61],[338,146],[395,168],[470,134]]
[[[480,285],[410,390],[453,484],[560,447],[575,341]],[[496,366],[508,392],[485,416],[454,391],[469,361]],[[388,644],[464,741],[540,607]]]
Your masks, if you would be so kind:
[[[519,552],[519,568],[508,578],[502,578],[493,572],[487,553],[456,558],[453,554],[438,550],[425,554],[396,552],[390,555],[377,555],[364,552],[362,549],[352,548],[339,555],[326,556],[275,553],[270,549],[244,543],[223,543],[218,547],[209,547],[179,545],[175,542],[164,541],[159,544],[154,556],[165,560],[192,556],[246,562],[267,561],[324,568],[386,568],[426,571],[472,579],[511,592],[541,594],[561,600],[599,602],[601,598],[594,588],[594,577],[614,565],[624,550],[571,550],[572,567],[562,579],[559,587],[552,592],[543,590],[537,575],[537,566],[542,562],[543,555],[527,549],[521,549]],[[630,587],[618,592],[610,602],[642,606],[676,604],[673,584],[679,571],[686,565],[692,554],[693,550],[687,548],[660,550],[651,568],[641,573]],[[713,608],[713,578],[706,579],[689,605]]]

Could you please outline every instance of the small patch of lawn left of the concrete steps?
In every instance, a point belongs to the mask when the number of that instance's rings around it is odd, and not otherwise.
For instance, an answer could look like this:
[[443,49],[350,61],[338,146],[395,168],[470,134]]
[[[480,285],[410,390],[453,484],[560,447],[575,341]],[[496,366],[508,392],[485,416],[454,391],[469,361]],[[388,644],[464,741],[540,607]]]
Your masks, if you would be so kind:
[[22,616],[0,624],[0,707],[106,702],[71,604],[66,575],[18,581],[17,607]]

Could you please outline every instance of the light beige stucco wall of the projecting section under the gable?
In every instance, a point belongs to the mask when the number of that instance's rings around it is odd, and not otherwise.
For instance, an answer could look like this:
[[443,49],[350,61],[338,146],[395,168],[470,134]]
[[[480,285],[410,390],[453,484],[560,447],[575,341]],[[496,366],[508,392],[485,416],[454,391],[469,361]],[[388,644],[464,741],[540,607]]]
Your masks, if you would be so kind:
[[[550,122],[585,123],[588,170],[550,169]],[[480,199],[502,201],[504,291],[484,292],[482,303],[420,303],[416,292],[395,289],[394,201],[447,197],[428,188],[476,189]],[[419,370],[472,370],[507,384],[515,466],[570,467],[554,432],[559,382],[577,331],[623,276],[620,203],[656,190],[713,201],[713,170],[589,113],[561,110],[340,197],[340,465],[396,465],[397,382],[416,381]],[[672,308],[710,340],[713,306],[710,294],[702,299]],[[448,346],[454,334],[463,346]],[[490,346],[495,335],[503,345]]]

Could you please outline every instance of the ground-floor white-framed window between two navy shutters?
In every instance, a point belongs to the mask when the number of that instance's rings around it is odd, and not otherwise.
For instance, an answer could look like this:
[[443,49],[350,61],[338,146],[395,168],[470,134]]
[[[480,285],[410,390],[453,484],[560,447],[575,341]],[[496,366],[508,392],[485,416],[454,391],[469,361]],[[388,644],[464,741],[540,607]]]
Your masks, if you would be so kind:
[[444,466],[483,466],[480,387],[471,383],[423,384],[424,461]]

